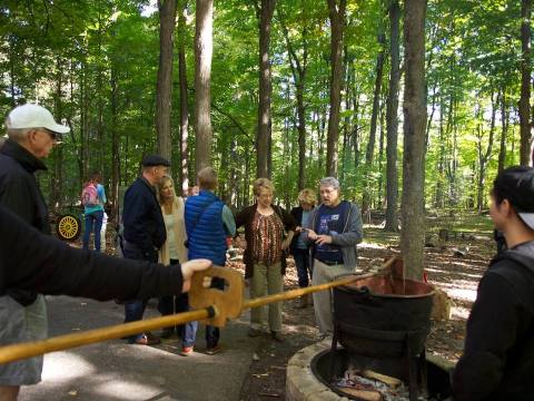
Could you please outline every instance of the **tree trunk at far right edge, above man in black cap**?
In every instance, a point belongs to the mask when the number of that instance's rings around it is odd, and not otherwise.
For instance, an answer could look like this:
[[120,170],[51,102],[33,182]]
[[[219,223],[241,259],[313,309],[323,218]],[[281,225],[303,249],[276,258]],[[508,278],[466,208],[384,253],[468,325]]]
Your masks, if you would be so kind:
[[532,0],[521,2],[521,98],[520,98],[520,163],[531,163],[531,9]]

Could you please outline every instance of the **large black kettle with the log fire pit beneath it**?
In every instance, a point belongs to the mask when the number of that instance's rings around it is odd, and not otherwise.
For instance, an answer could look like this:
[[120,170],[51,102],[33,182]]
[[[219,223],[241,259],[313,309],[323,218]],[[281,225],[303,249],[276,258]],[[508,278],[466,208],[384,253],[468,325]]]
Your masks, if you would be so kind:
[[[449,395],[448,372],[429,364],[425,354],[434,287],[405,280],[400,258],[389,260],[386,266],[333,290],[330,350],[310,362],[328,389],[318,390],[317,400],[418,401]],[[293,371],[288,365],[288,399],[297,400],[290,393]],[[313,398],[308,393],[304,399]]]

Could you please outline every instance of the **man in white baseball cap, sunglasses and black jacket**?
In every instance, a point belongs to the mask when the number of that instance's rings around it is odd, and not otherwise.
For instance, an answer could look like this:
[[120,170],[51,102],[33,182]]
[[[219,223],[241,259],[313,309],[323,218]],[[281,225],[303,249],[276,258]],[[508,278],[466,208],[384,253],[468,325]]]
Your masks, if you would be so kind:
[[[42,233],[50,233],[48,207],[34,173],[46,170],[41,162],[68,133],[46,108],[23,105],[12,109],[7,119],[8,139],[0,149],[0,204]],[[8,288],[0,296],[0,309],[9,321],[0,321],[0,345],[40,340],[47,336],[47,306],[42,295]],[[0,365],[0,400],[16,400],[20,385],[41,380],[42,356]]]

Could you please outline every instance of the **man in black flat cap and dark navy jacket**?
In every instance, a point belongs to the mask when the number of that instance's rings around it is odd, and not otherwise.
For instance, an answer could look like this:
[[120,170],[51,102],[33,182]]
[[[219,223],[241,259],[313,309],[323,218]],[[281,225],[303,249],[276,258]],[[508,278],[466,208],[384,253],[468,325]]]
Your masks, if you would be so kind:
[[[161,156],[145,156],[141,162],[141,176],[125,193],[122,208],[125,257],[158,262],[158,251],[167,239],[164,216],[155,186],[168,173],[169,162]],[[142,319],[148,299],[125,302],[125,323]],[[128,338],[130,344],[154,345],[160,340],[150,332]]]

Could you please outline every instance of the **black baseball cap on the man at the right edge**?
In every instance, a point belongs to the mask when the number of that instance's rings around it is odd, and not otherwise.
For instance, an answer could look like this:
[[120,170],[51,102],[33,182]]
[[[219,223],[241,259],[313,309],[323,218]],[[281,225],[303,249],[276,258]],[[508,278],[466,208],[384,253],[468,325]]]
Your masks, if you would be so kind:
[[508,199],[520,218],[534,229],[534,168],[514,166],[502,170],[493,182],[493,193]]

